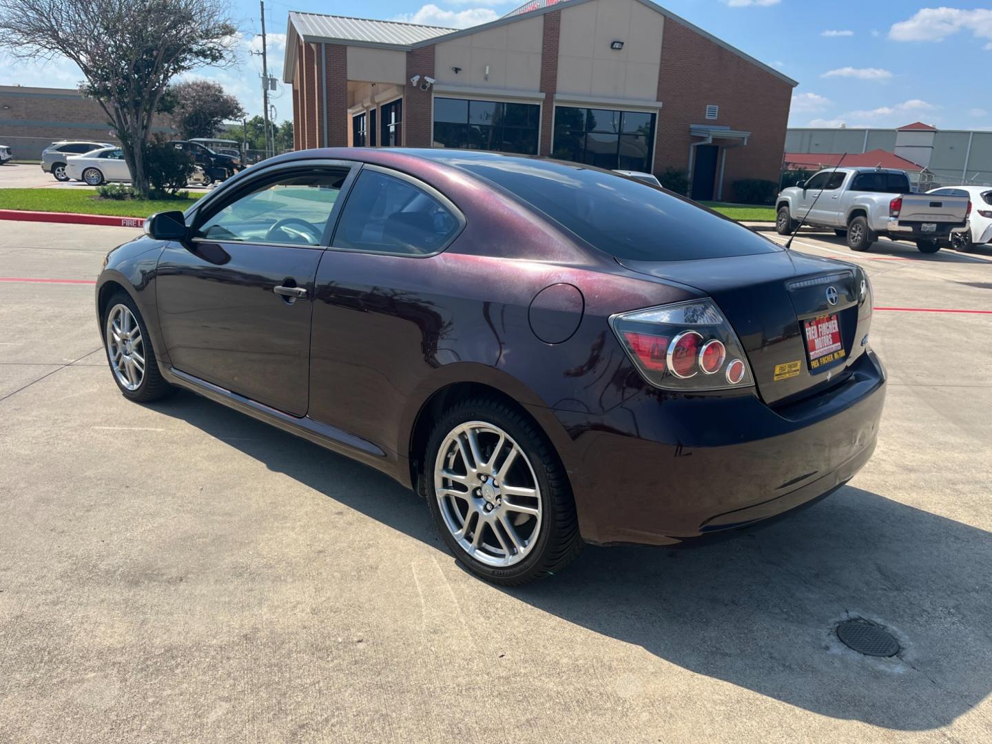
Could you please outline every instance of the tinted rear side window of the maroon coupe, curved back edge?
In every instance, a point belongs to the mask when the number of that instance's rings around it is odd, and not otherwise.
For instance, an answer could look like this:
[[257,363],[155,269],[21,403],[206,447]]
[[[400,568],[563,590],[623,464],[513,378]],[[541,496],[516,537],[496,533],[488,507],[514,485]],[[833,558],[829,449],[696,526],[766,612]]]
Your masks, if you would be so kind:
[[460,223],[427,191],[378,171],[363,170],[348,194],[334,248],[425,256],[447,246]]

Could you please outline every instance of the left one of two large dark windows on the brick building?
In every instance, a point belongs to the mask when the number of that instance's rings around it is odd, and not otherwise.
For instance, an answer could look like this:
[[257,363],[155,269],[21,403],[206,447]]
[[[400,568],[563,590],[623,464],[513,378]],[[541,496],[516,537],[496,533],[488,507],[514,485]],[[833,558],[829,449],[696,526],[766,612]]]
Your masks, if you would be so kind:
[[434,98],[434,147],[538,154],[541,106]]

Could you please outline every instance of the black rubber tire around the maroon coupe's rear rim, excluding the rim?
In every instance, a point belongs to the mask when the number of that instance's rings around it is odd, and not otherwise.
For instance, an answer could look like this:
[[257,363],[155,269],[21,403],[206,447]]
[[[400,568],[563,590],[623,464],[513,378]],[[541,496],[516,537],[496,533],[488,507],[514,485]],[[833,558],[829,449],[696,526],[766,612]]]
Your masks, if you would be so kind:
[[[467,422],[494,425],[508,434],[530,461],[535,483],[540,488],[541,526],[537,538],[533,538],[533,533],[531,536],[536,542],[528,555],[507,567],[487,565],[458,544],[444,521],[435,494],[434,464],[438,450],[449,433]],[[448,550],[475,575],[501,586],[520,586],[558,573],[581,552],[583,544],[575,502],[558,453],[538,426],[513,406],[489,398],[473,398],[448,409],[434,425],[424,467],[434,525]],[[481,523],[475,524],[479,529]]]

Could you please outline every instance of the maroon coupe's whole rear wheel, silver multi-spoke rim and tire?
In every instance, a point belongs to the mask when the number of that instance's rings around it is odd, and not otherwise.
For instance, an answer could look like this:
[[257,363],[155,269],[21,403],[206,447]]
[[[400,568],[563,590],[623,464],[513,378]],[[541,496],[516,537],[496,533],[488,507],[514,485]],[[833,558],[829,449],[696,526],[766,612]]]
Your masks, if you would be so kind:
[[519,410],[480,398],[437,422],[426,467],[434,524],[469,570],[504,586],[557,573],[582,541],[548,438]]

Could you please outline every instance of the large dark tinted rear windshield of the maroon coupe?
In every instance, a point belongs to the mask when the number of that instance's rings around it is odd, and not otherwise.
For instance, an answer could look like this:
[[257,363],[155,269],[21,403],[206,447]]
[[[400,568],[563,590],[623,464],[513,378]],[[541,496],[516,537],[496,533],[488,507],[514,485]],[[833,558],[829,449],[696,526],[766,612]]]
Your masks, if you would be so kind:
[[688,199],[608,171],[526,158],[433,157],[505,188],[618,259],[689,261],[782,250]]

